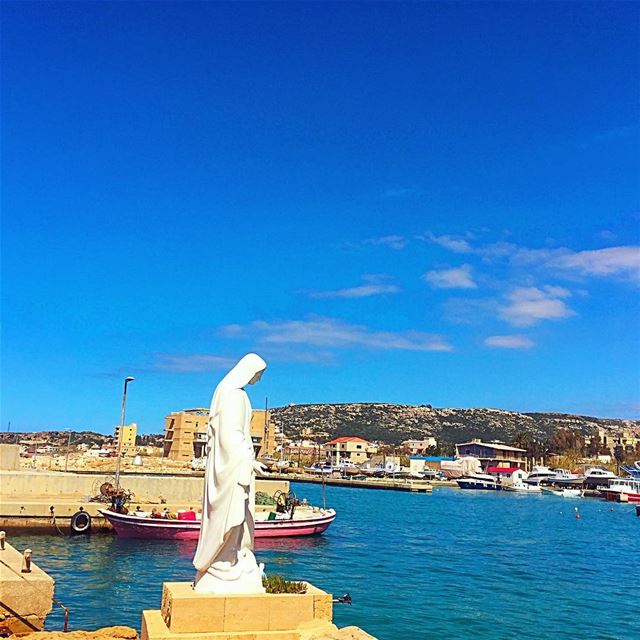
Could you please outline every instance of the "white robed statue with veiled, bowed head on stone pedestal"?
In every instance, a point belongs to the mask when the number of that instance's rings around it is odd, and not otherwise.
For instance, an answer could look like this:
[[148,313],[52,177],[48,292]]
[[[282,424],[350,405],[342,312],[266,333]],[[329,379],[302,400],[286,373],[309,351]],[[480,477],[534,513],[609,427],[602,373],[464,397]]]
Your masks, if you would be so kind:
[[251,403],[243,387],[267,363],[244,356],[216,387],[209,412],[202,528],[193,564],[198,593],[263,593],[253,555],[255,472],[263,471],[251,441]]

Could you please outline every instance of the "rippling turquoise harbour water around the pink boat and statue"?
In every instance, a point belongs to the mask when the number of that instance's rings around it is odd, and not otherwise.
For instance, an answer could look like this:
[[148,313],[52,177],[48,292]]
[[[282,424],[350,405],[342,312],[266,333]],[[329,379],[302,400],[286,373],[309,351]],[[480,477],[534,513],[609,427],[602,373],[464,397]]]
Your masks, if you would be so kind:
[[[315,504],[321,489],[294,490]],[[640,518],[629,505],[501,492],[329,487],[317,538],[260,542],[267,571],[342,595],[339,626],[380,640],[638,637]],[[579,508],[580,519],[574,507]],[[139,628],[163,581],[190,580],[194,543],[13,536],[56,578],[72,629]],[[635,590],[634,590],[635,585]],[[54,614],[48,629],[62,628]]]

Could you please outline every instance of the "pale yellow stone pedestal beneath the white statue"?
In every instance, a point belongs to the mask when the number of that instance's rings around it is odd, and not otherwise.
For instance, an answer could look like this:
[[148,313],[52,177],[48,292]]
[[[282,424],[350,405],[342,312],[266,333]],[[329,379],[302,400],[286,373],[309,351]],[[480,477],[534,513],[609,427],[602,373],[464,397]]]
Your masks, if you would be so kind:
[[308,583],[304,594],[216,595],[165,582],[162,609],[142,612],[141,640],[303,640],[335,629],[332,618],[332,596]]

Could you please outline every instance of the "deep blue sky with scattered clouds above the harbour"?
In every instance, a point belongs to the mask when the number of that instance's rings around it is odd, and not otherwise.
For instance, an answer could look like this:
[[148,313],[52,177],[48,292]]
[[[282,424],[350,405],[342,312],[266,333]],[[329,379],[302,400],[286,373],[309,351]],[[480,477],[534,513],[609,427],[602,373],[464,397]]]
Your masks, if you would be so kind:
[[15,3],[2,425],[640,415],[635,3]]

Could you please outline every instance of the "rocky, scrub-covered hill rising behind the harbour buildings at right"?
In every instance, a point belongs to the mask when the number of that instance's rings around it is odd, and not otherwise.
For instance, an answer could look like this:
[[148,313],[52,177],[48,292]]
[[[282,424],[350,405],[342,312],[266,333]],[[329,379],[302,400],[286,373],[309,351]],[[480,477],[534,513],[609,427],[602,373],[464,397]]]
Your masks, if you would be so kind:
[[446,445],[471,438],[509,442],[522,433],[548,440],[558,428],[582,435],[594,433],[598,427],[640,429],[640,420],[383,403],[292,405],[273,409],[272,419],[287,438],[295,438],[303,429],[309,428],[314,433],[326,434],[327,439],[358,435],[391,444],[426,435],[432,435]]

